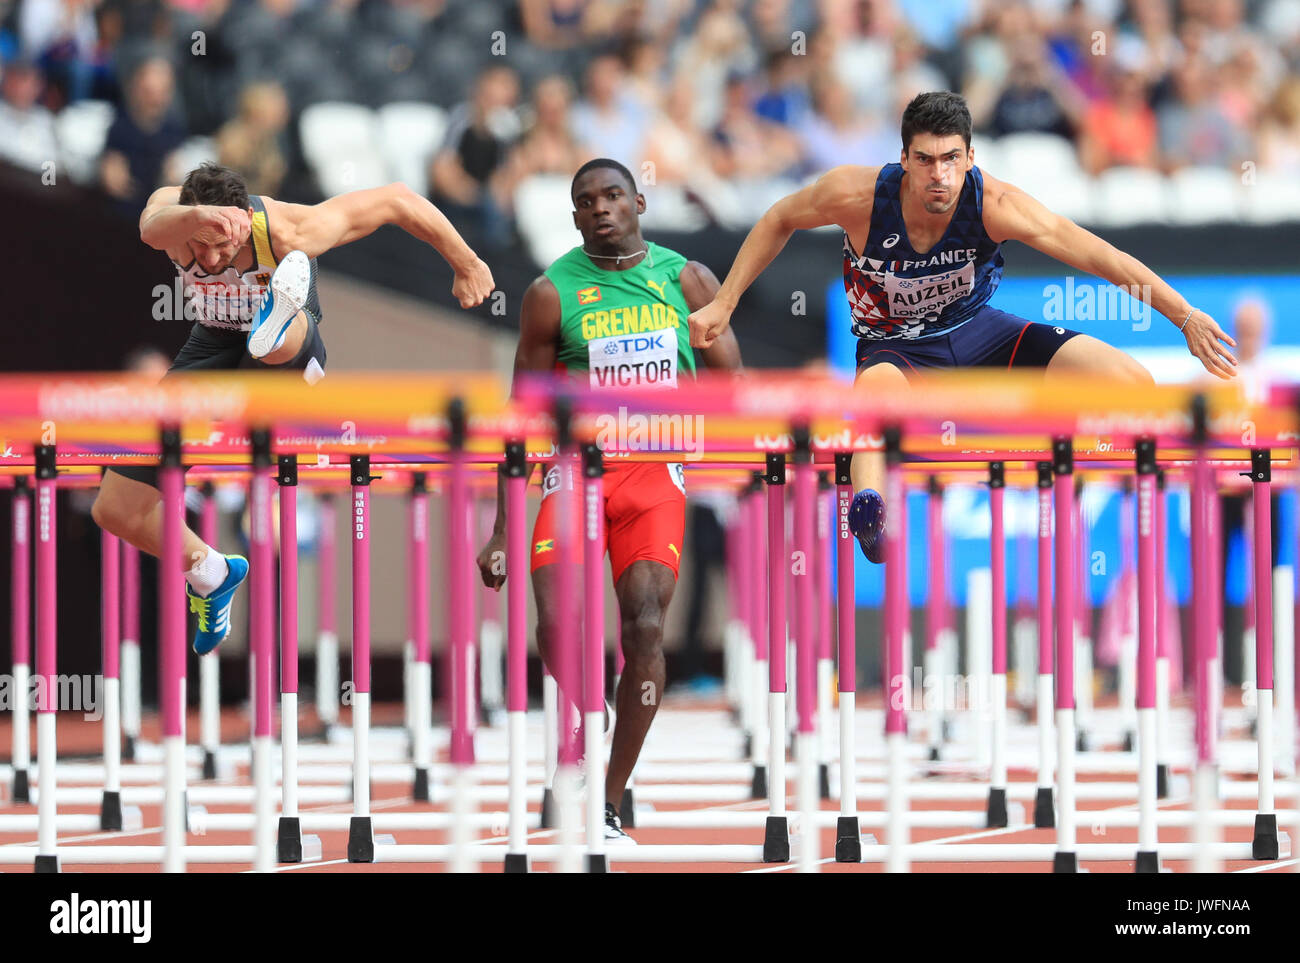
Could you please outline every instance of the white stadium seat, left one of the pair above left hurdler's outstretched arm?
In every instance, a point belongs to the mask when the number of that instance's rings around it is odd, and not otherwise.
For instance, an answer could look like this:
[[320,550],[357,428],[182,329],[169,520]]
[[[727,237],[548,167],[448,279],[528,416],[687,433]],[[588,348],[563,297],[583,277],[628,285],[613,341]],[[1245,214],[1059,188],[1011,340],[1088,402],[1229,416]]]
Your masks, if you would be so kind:
[[298,130],[303,156],[325,196],[389,182],[378,147],[378,120],[370,108],[338,101],[312,104],[303,110]]

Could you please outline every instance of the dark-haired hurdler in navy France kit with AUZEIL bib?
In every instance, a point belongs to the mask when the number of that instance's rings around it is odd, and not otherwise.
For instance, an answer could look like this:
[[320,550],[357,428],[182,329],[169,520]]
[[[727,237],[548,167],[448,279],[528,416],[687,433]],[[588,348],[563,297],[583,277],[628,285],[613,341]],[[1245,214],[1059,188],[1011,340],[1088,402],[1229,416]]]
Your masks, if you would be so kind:
[[[855,386],[897,392],[924,368],[1044,368],[1150,383],[1122,351],[1087,334],[989,307],[1004,240],[1127,289],[1167,317],[1206,370],[1231,378],[1235,342],[1138,259],[975,166],[971,116],[957,94],[920,94],[902,116],[902,156],[880,168],[840,166],[774,204],[745,238],[711,304],[690,316],[692,344],[727,330],[741,294],[797,229],[844,230],[844,289],[858,340]],[[884,460],[853,460],[850,528],[884,559]]]

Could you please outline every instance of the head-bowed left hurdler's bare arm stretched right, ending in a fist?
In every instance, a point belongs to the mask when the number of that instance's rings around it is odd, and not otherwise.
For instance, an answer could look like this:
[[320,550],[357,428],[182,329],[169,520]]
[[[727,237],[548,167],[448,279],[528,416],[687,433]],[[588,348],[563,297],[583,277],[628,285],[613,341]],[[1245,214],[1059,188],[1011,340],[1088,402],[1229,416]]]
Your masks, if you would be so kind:
[[276,216],[273,224],[282,247],[317,257],[342,244],[373,234],[393,224],[434,248],[456,272],[451,294],[462,308],[481,304],[491,294],[493,279],[488,265],[480,260],[460,233],[438,208],[404,183],[390,183],[367,191],[348,191],[311,207],[269,201]]

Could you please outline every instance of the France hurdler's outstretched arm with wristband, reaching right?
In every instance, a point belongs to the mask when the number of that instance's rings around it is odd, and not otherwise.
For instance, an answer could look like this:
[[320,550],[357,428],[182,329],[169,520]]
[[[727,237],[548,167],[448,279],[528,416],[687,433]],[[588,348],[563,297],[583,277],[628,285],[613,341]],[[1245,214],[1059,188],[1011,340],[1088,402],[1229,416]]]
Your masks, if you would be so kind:
[[984,178],[984,229],[993,240],[1020,240],[1071,268],[1123,287],[1180,327],[1188,351],[1200,359],[1205,370],[1225,379],[1236,376],[1236,359],[1223,346],[1236,347],[1236,342],[1214,318],[1193,309],[1156,272],[1069,217],[1048,211],[1023,191],[988,174]]

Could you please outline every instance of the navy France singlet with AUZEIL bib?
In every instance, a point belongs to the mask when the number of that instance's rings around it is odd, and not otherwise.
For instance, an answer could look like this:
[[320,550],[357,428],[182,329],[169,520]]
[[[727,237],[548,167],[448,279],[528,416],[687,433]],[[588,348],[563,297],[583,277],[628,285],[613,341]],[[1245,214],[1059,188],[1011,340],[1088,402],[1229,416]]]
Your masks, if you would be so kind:
[[984,231],[979,168],[966,172],[948,230],[924,256],[907,240],[902,175],[900,164],[880,169],[861,255],[844,234],[844,291],[858,338],[910,340],[945,334],[970,321],[1002,279],[1001,247]]

